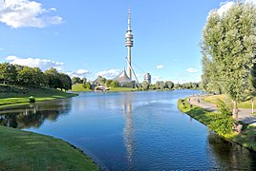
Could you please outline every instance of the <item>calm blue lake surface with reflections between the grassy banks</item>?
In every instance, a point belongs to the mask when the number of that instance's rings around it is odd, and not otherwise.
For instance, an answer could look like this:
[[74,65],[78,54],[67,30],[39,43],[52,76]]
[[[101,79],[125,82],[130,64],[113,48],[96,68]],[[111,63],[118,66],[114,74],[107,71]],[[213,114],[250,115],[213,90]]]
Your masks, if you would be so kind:
[[0,110],[0,124],[71,142],[101,170],[256,170],[256,153],[177,108],[195,90],[84,92]]

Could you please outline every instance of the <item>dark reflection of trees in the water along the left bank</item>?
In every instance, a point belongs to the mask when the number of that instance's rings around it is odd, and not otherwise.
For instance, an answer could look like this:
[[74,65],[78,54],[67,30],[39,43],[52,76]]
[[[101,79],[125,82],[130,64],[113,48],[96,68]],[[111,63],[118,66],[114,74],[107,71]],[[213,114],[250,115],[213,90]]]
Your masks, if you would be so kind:
[[9,108],[0,113],[0,125],[24,129],[39,127],[46,120],[55,122],[60,115],[71,110],[68,101],[55,101],[52,104],[30,104],[20,108]]

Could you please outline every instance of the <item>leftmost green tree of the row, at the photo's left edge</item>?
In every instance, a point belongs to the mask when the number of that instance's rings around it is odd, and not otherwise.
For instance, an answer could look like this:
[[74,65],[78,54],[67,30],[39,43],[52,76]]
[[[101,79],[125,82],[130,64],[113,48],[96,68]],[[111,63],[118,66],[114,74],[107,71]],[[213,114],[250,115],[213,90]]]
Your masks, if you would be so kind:
[[2,80],[4,84],[16,82],[16,76],[17,71],[15,66],[9,63],[0,64],[0,80]]

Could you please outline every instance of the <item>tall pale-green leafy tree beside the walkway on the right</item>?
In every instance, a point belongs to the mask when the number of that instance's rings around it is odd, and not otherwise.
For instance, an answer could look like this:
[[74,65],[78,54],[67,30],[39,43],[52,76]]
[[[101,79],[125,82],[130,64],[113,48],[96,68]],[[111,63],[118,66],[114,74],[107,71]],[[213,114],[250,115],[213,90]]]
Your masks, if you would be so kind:
[[238,2],[220,15],[212,11],[203,28],[203,76],[220,86],[233,104],[245,99],[248,77],[256,58],[256,7]]

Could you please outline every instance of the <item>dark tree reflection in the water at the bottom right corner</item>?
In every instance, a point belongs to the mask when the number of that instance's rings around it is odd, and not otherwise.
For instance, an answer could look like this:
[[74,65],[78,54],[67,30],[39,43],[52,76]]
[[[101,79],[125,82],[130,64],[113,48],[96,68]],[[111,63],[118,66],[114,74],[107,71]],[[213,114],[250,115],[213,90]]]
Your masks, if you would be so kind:
[[215,133],[209,133],[208,143],[211,156],[224,170],[255,170],[256,153],[235,142],[225,141]]

